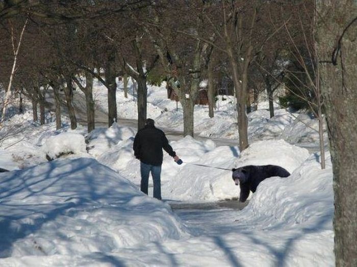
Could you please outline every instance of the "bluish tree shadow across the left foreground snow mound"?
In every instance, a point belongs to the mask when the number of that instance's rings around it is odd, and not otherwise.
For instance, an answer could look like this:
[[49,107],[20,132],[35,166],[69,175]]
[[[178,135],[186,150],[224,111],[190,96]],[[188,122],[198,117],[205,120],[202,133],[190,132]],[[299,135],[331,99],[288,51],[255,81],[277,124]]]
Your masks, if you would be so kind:
[[[37,232],[44,224],[68,212],[78,212],[73,208],[115,197],[110,187],[96,188],[99,181],[91,168],[97,166],[94,159],[78,158],[41,165],[12,171],[0,182],[0,258],[10,257],[16,241]],[[82,176],[75,174],[79,171]],[[65,182],[59,183],[62,179]],[[33,203],[35,195],[44,201]],[[46,199],[52,201],[46,202]]]

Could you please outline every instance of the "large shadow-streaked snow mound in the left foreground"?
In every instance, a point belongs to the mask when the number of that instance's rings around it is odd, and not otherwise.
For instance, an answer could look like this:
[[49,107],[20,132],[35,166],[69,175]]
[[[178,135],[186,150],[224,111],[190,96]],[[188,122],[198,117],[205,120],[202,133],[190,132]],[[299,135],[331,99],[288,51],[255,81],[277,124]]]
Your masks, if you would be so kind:
[[10,257],[0,260],[3,266],[17,257],[88,257],[187,235],[168,205],[94,159],[44,163],[0,178],[0,257]]

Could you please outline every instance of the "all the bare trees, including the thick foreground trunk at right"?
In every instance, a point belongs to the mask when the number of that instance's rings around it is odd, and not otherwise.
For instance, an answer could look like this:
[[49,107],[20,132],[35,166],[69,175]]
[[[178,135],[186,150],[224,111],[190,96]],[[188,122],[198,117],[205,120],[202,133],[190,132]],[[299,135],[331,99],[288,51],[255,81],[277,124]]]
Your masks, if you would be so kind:
[[[320,124],[325,107],[335,181],[336,263],[354,266],[356,6],[354,0],[2,1],[0,83],[9,94],[20,90],[31,98],[34,109],[39,102],[40,110],[44,90],[52,87],[59,127],[63,90],[72,128],[77,85],[86,95],[90,131],[93,77],[108,89],[111,125],[117,119],[115,78],[127,74],[138,84],[141,128],[147,79],[156,71],[179,97],[184,134],[193,136],[198,84],[209,78],[211,92],[214,74],[221,71],[234,84],[241,151],[248,146],[248,89],[263,81],[272,104],[276,85],[290,84],[290,97],[304,98]],[[287,58],[293,64],[286,65]],[[209,99],[213,116],[211,94]]]

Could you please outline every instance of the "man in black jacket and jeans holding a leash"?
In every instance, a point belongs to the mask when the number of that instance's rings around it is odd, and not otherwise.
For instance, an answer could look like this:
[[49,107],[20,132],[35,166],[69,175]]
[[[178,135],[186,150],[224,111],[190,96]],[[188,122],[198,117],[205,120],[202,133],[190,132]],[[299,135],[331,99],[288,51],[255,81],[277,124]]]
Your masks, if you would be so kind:
[[140,160],[140,190],[147,195],[151,172],[154,182],[154,198],[161,199],[162,149],[172,156],[177,164],[182,164],[181,159],[172,150],[165,133],[155,127],[155,121],[152,119],[146,119],[145,127],[136,134],[133,148],[135,157]]

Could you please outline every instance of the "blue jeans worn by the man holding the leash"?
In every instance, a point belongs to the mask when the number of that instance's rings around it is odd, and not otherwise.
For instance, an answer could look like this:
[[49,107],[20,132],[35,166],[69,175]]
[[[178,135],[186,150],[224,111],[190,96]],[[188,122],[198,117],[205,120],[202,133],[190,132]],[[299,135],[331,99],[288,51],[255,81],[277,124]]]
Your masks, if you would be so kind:
[[155,166],[140,162],[140,190],[147,195],[150,171],[154,182],[154,198],[161,199],[161,165]]

